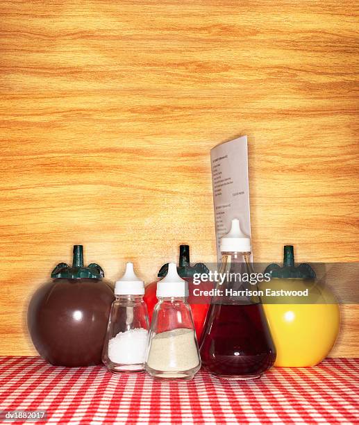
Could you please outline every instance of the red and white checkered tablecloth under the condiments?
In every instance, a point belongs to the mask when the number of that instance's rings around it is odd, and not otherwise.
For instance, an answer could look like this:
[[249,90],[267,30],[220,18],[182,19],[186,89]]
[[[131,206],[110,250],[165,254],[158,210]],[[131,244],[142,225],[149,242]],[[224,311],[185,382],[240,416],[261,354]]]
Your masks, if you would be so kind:
[[70,369],[41,358],[3,357],[0,411],[47,410],[46,422],[52,424],[355,424],[358,381],[359,359],[272,368],[260,379],[242,382],[201,370],[192,381],[178,382],[111,374],[101,366]]

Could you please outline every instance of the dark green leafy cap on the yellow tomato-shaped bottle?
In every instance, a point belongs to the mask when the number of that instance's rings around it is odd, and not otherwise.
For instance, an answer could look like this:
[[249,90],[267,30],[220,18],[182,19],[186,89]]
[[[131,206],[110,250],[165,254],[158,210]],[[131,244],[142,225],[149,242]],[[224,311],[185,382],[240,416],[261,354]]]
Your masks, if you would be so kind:
[[269,273],[271,278],[299,278],[299,279],[315,279],[315,271],[307,263],[301,263],[299,266],[294,265],[294,247],[293,245],[285,245],[283,256],[283,267],[278,264],[270,264],[265,269],[265,273]]

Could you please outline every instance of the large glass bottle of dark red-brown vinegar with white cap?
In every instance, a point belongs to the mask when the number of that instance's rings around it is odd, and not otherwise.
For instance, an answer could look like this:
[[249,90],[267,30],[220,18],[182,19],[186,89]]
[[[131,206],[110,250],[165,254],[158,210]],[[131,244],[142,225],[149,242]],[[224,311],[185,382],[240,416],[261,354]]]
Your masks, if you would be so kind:
[[221,239],[221,252],[220,292],[212,298],[202,333],[202,365],[220,378],[258,378],[274,364],[276,350],[260,299],[249,292],[257,290],[246,278],[253,276],[251,240],[238,219]]

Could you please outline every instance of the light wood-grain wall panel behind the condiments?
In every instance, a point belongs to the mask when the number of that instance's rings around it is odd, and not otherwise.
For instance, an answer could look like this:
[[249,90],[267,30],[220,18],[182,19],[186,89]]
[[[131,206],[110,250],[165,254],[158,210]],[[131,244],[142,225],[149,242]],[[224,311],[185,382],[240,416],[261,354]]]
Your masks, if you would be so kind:
[[[253,251],[358,261],[358,2],[2,1],[0,354],[72,244],[215,259],[210,149],[249,136]],[[338,282],[340,284],[340,282]],[[333,356],[359,356],[345,306]]]

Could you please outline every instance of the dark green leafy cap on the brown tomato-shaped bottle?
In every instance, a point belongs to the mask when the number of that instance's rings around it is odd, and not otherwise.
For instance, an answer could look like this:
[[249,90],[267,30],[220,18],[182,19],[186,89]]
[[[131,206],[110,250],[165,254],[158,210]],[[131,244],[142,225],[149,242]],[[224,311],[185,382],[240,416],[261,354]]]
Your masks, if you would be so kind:
[[98,264],[91,263],[84,267],[82,245],[74,245],[72,267],[66,263],[59,263],[51,273],[51,278],[56,279],[101,279],[103,277],[105,273]]

